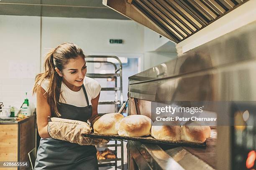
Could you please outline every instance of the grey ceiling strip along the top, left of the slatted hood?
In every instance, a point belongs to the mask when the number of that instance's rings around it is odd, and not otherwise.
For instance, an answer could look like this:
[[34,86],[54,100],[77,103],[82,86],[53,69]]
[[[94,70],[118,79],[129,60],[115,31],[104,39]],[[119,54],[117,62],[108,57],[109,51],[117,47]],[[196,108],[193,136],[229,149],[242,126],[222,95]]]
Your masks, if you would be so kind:
[[129,20],[102,0],[0,0],[0,15]]

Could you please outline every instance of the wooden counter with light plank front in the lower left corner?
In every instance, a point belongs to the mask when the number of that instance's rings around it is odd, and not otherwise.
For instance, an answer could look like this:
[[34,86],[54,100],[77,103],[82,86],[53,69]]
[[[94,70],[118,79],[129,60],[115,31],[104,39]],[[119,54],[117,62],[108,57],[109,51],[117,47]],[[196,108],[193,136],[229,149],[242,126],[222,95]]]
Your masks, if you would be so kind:
[[[28,152],[35,148],[36,116],[0,123],[0,161],[28,161]],[[3,170],[6,168],[0,168]],[[8,168],[8,170],[28,168]]]

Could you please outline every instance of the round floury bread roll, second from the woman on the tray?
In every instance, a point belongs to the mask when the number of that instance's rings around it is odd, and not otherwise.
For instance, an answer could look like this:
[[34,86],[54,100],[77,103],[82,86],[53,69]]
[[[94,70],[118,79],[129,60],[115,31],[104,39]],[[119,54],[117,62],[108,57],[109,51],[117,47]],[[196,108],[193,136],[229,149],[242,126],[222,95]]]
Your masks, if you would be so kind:
[[118,135],[141,137],[148,136],[151,130],[151,119],[144,115],[130,115],[120,121]]

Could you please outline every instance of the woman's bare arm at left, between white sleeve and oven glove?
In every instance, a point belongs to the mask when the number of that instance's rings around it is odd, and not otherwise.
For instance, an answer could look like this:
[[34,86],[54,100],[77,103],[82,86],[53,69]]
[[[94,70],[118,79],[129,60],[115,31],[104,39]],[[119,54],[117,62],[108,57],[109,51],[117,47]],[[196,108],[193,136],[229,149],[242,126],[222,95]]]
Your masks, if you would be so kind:
[[36,92],[36,121],[40,137],[51,138],[47,130],[48,116],[51,117],[51,107],[44,96],[45,92],[42,87]]

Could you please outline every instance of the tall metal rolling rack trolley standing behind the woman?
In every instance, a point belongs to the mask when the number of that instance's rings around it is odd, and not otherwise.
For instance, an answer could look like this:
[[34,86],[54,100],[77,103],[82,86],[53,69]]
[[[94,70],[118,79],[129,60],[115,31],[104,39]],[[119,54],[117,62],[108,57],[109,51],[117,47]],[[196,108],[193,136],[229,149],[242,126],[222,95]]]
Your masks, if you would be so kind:
[[[95,60],[88,60],[89,58],[115,58],[119,62],[119,67],[117,64],[113,62],[109,62],[106,60],[102,61],[95,61]],[[115,105],[115,112],[118,112],[118,105],[123,104],[123,86],[122,86],[122,62],[120,59],[116,56],[104,56],[104,55],[89,55],[86,57],[86,62],[90,63],[109,63],[114,66],[115,73],[108,73],[108,74],[97,74],[97,73],[88,73],[86,74],[87,77],[90,78],[114,78],[115,79],[115,87],[102,87],[101,91],[115,91],[115,100],[111,101],[99,101],[99,105]],[[118,77],[120,77],[120,87],[118,87]],[[120,91],[120,100],[118,100],[118,91]],[[99,115],[104,115],[106,113],[99,113]],[[121,161],[121,169],[123,170],[123,141],[120,140],[120,144],[118,143],[118,140],[111,139],[110,141],[114,141],[115,144],[105,144],[105,145],[97,145],[96,148],[107,148],[107,147],[115,147],[115,159],[105,159],[105,160],[98,160],[98,164],[100,167],[102,166],[113,166],[115,165],[115,170],[117,170],[117,161]],[[121,158],[118,158],[117,155],[117,147],[121,147]],[[115,161],[115,162],[113,162]]]

